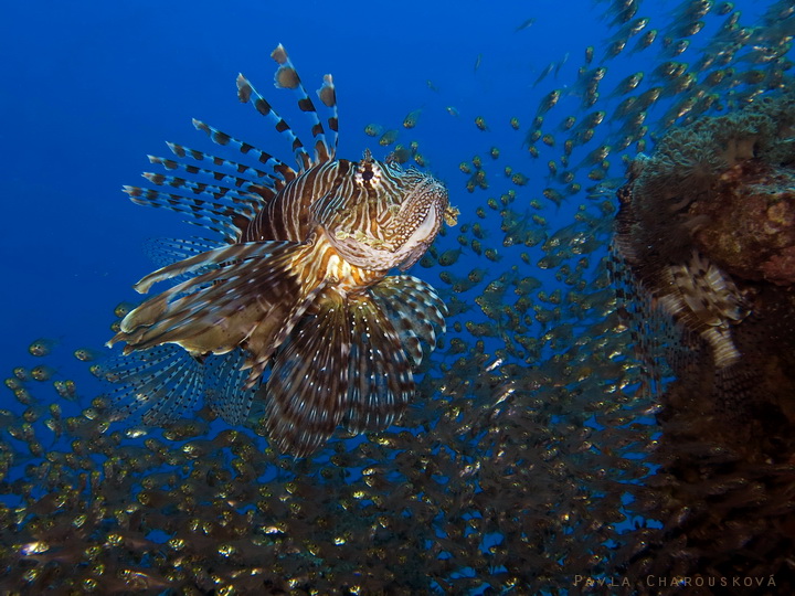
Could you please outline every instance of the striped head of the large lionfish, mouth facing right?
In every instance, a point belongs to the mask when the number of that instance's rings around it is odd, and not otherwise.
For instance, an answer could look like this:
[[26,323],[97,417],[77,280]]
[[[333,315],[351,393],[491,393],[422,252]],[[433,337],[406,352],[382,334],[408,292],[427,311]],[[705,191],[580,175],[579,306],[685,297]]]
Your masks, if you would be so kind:
[[458,210],[447,189],[414,168],[377,161],[340,161],[342,182],[316,204],[315,216],[348,263],[368,269],[407,269]]

